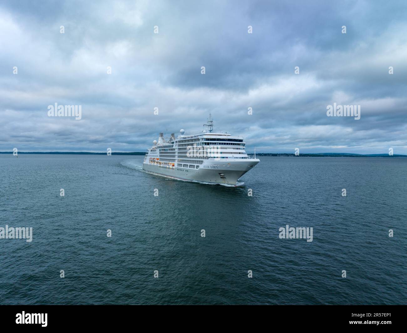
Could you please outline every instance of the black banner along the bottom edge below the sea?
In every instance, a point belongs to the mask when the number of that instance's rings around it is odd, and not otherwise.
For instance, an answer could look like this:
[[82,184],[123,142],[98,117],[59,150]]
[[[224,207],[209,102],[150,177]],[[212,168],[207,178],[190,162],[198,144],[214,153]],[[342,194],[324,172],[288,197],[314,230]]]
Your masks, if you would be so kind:
[[[18,314],[42,313],[46,326],[17,324]],[[237,326],[255,329],[395,329],[404,326],[405,305],[1,305],[2,328],[125,329],[147,324],[154,330],[174,324],[213,330]],[[38,317],[37,317],[38,318]],[[193,326],[190,326],[192,322]],[[352,323],[351,323],[352,322]],[[374,323],[372,323],[374,322]],[[376,322],[379,322],[377,324]],[[245,326],[241,326],[241,325]]]

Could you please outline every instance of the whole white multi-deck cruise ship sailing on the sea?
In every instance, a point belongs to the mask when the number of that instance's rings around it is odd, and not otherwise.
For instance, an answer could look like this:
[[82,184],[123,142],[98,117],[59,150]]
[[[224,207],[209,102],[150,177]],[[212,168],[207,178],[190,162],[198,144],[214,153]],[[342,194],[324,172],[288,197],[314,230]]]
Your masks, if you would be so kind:
[[147,149],[143,169],[181,180],[236,186],[239,178],[260,162],[256,150],[250,157],[241,136],[212,131],[209,115],[199,133],[184,135],[181,129],[177,138],[173,133],[167,139],[160,133],[153,147]]

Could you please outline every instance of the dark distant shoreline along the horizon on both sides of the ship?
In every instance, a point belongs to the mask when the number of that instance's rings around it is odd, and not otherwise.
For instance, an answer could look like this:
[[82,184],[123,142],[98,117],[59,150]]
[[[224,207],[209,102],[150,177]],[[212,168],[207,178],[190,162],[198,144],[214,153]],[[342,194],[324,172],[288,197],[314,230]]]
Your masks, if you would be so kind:
[[[0,154],[12,154],[12,151],[0,151]],[[106,155],[106,153],[92,153],[89,151],[19,151],[19,154],[50,154],[50,155]],[[112,155],[145,155],[145,152],[134,151],[129,153],[112,152]],[[251,156],[252,153],[249,153]],[[352,154],[352,153],[309,153],[295,154],[289,153],[257,153],[256,157],[274,156],[274,157],[384,157],[384,158],[407,158],[407,155],[389,155],[389,154]]]

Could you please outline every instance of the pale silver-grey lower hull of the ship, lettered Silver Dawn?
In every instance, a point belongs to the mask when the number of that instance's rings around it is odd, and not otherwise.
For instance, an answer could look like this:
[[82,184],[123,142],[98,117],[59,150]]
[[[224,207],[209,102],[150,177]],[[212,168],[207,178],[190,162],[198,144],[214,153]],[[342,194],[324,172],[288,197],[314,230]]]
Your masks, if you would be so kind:
[[208,161],[199,169],[180,168],[177,166],[163,166],[158,164],[143,163],[143,169],[158,175],[174,177],[181,180],[205,182],[211,184],[230,184],[236,182],[247,171],[252,169],[259,159],[245,159],[244,161]]

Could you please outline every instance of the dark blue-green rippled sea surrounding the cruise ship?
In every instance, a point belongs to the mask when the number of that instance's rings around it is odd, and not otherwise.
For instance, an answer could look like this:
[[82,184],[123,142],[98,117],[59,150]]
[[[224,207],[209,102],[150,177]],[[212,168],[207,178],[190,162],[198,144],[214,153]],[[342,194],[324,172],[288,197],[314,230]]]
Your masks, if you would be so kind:
[[1,304],[407,303],[407,159],[263,157],[231,187],[142,158],[0,154],[0,227],[33,228],[0,239]]

